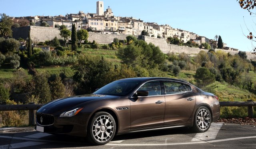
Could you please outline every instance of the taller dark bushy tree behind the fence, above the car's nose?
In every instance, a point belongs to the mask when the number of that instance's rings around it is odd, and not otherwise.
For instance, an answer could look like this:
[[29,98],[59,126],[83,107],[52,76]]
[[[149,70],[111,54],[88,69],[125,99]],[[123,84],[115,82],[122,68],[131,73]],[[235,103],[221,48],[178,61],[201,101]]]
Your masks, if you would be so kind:
[[48,79],[44,74],[38,74],[34,76],[35,89],[33,95],[39,96],[38,103],[47,103],[51,101],[50,87]]

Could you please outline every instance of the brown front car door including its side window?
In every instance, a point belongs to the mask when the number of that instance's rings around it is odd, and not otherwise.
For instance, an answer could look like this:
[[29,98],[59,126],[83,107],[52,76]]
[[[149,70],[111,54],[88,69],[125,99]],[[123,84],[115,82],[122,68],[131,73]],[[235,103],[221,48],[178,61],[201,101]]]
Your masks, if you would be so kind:
[[138,89],[141,90],[148,91],[148,96],[134,95],[130,100],[131,129],[163,126],[165,101],[160,81],[149,81]]

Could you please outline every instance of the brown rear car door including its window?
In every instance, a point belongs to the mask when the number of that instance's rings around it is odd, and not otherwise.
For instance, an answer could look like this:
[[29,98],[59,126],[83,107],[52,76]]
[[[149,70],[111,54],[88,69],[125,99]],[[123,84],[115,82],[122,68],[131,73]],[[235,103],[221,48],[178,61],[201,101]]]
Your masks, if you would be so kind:
[[196,97],[190,85],[177,81],[162,81],[165,91],[164,125],[175,125],[189,120]]

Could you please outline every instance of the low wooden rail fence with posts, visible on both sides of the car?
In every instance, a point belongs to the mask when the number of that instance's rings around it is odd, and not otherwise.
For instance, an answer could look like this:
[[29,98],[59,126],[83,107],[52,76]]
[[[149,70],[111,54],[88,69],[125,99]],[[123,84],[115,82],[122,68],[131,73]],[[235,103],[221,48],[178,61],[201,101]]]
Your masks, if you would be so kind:
[[[0,111],[16,111],[28,110],[28,125],[35,125],[35,110],[39,109],[43,104],[25,104],[25,105],[0,105]],[[248,101],[220,101],[220,107],[248,107],[248,117],[253,117],[253,106],[256,102]]]

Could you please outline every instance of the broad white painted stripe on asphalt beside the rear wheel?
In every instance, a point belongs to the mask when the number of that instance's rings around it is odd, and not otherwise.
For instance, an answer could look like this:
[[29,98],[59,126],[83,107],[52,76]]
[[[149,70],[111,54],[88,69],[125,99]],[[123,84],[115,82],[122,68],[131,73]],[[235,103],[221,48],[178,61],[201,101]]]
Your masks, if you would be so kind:
[[222,125],[223,123],[212,123],[208,131],[204,133],[196,133],[191,141],[206,141],[215,139]]

